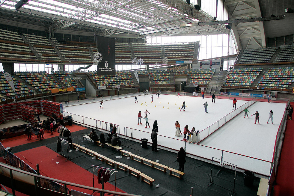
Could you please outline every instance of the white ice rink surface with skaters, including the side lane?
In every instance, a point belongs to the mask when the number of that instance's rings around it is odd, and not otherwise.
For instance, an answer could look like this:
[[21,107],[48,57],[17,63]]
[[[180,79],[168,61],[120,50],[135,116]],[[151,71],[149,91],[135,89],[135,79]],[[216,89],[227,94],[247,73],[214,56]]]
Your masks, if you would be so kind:
[[[232,99],[216,99],[211,103],[211,98],[187,97],[175,95],[160,95],[157,98],[153,94],[153,103],[151,103],[151,94],[137,96],[138,103],[135,103],[135,97],[103,101],[103,109],[100,102],[88,103],[82,105],[65,107],[67,113],[77,114],[80,116],[117,124],[120,126],[120,134],[141,139],[147,138],[149,142],[150,133],[154,120],[158,121],[158,145],[178,150],[184,147],[186,143],[186,152],[204,159],[211,159],[211,156],[218,159],[223,156],[223,160],[237,165],[237,168],[244,168],[260,174],[268,174],[270,163],[260,161],[263,159],[271,162],[275,145],[275,137],[281,123],[286,104],[284,103],[267,103],[255,102],[248,107],[249,118],[244,118],[244,113],[240,113],[229,122],[225,123],[217,131],[209,135],[205,140],[198,144],[183,141],[184,135],[175,137],[175,121],[178,121],[183,132],[184,126],[189,125],[189,130],[195,127],[195,130],[203,130],[213,123],[217,122],[224,116],[230,114],[233,110]],[[182,102],[186,102],[185,111],[180,111]],[[203,103],[208,103],[208,113],[205,113]],[[238,100],[237,108],[248,101]],[[144,117],[144,111],[148,110],[148,120],[150,128],[145,129],[145,120],[141,119],[143,125],[137,125],[138,112]],[[269,117],[269,111],[274,112],[274,124],[266,123]],[[254,114],[258,111],[260,114],[260,124],[254,124]],[[73,115],[73,120],[77,120]],[[86,121],[86,120],[85,120]],[[84,122],[85,122],[84,121]],[[90,120],[91,121],[91,120]],[[94,121],[85,122],[85,124],[94,125]],[[128,127],[126,131],[124,127]],[[129,129],[131,128],[131,129]],[[139,131],[141,130],[141,131]],[[202,138],[201,138],[202,139]],[[159,147],[160,148],[160,147]],[[220,149],[220,150],[218,150]],[[237,153],[223,152],[222,150]],[[252,159],[250,156],[257,159]]]

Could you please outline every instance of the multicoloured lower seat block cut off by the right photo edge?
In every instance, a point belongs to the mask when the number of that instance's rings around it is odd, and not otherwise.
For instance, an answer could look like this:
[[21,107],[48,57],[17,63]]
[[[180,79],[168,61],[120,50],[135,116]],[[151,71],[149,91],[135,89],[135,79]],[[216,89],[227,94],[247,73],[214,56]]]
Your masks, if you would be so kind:
[[262,87],[287,88],[294,82],[293,67],[269,68],[258,82]]

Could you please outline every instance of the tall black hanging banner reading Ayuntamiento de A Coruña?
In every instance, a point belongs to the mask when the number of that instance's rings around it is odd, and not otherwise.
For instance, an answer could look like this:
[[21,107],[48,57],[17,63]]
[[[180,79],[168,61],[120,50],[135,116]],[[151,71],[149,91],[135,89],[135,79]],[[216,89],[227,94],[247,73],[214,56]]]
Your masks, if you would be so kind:
[[115,39],[97,36],[97,52],[102,54],[102,60],[97,66],[98,76],[115,75]]

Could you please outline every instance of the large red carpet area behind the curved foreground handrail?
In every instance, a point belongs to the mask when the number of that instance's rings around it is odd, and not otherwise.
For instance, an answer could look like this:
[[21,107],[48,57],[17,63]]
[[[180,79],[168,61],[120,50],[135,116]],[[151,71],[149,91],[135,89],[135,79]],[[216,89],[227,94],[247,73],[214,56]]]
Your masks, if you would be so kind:
[[[40,174],[43,176],[93,187],[93,174],[91,172],[71,161],[66,162],[66,159],[63,156],[57,156],[58,153],[46,146],[41,146],[14,154],[19,157],[19,159],[22,159],[24,162],[30,165],[33,169],[36,169],[36,164],[38,163]],[[56,162],[59,163],[56,164]],[[91,165],[89,165],[89,167],[91,167]],[[111,178],[114,179],[113,176],[111,176]],[[92,194],[92,191],[90,190],[79,189],[72,186],[67,187],[70,190],[74,189],[80,192]],[[96,176],[94,176],[94,187],[101,188],[101,184],[98,184]],[[115,191],[115,187],[110,183],[104,183],[104,189]],[[117,188],[117,192],[123,191]],[[96,195],[100,195],[100,193],[96,193]]]

